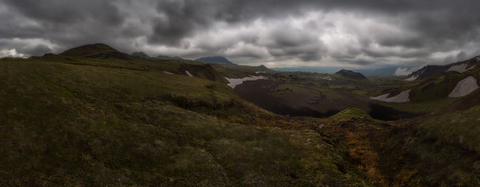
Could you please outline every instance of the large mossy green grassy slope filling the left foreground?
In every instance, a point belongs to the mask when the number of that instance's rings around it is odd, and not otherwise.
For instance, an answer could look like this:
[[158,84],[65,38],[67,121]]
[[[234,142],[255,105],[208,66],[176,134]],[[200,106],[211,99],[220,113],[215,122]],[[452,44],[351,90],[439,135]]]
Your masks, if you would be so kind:
[[369,186],[225,84],[131,62],[0,60],[0,186]]

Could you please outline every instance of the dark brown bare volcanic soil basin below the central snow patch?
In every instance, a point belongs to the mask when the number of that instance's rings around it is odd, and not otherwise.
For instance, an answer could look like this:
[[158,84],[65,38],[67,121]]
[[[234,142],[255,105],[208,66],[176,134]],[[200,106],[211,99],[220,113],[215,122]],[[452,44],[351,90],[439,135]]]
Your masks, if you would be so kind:
[[[337,114],[347,108],[360,108],[368,112],[374,119],[385,121],[407,119],[420,114],[403,112],[383,105],[372,103],[370,99],[339,91],[339,98],[326,98],[315,91],[293,91],[287,95],[269,94],[272,88],[284,82],[269,79],[243,82],[235,87],[235,92],[243,99],[259,107],[280,115],[326,117]],[[291,83],[289,83],[291,84]],[[296,89],[298,90],[298,89]]]

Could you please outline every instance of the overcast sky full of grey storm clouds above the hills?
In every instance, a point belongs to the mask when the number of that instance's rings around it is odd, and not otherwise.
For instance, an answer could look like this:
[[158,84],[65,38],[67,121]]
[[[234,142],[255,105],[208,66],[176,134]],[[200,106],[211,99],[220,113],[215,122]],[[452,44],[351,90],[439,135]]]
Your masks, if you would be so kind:
[[398,66],[480,55],[480,1],[0,0],[0,58],[104,43],[267,67]]

